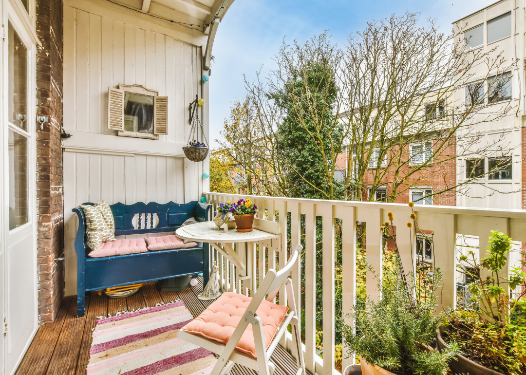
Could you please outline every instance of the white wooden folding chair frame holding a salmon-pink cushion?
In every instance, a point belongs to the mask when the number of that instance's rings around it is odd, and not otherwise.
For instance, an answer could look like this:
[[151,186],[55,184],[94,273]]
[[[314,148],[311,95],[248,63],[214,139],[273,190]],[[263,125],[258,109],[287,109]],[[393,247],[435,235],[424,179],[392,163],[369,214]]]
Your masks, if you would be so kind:
[[[296,299],[294,297],[294,290],[292,289],[292,281],[288,278],[289,272],[298,261],[302,249],[302,246],[296,246],[294,251],[292,251],[292,255],[290,256],[287,265],[283,269],[280,269],[278,272],[273,269],[268,270],[265,278],[259,283],[259,289],[257,290],[256,295],[250,301],[248,308],[226,344],[196,333],[186,332],[184,330],[185,327],[179,330],[178,337],[180,339],[218,354],[219,359],[210,375],[224,375],[230,371],[235,363],[254,369],[259,372],[259,375],[272,375],[275,368],[274,364],[269,361],[269,358],[272,355],[272,352],[274,352],[274,349],[276,349],[281,337],[287,332],[289,324],[292,326],[292,335],[295,338],[293,341],[295,343],[294,349],[296,351],[296,363],[298,365],[296,375],[306,374],[303,351],[301,350],[301,336],[298,329],[298,319],[300,314],[296,311]],[[266,348],[261,318],[256,314],[256,311],[267,294],[268,297],[266,300],[272,302],[276,297],[279,288],[284,284],[287,291],[289,311],[285,315],[285,318],[275,333],[274,338],[271,340],[268,348]],[[252,332],[254,333],[256,358],[236,349],[238,341],[241,339],[241,335],[245,332],[249,324],[252,325]]]

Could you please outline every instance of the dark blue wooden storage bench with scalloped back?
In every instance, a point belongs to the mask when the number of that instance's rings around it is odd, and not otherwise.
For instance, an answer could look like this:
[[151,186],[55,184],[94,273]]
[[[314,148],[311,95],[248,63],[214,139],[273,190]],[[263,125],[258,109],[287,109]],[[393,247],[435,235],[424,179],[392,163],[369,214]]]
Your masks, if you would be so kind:
[[[93,205],[93,203],[85,203]],[[210,205],[192,201],[183,205],[169,202],[160,205],[138,202],[133,205],[117,203],[109,206],[115,220],[115,236],[143,235],[173,232],[190,217],[206,221]],[[84,316],[86,291],[104,289],[139,282],[168,279],[178,276],[196,275],[203,272],[205,285],[208,282],[208,244],[199,243],[186,249],[169,249],[141,252],[139,254],[90,258],[85,239],[85,216],[80,207],[72,210],[78,216],[75,238],[77,253],[77,317]],[[132,220],[136,219],[137,229]],[[154,228],[155,215],[158,224]],[[137,225],[138,222],[138,225]]]

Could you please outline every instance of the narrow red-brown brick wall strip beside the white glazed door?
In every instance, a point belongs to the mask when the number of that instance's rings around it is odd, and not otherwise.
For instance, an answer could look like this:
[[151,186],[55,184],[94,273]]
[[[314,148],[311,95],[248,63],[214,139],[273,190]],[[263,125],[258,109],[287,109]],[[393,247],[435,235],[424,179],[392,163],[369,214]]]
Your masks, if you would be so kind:
[[55,319],[64,297],[62,200],[62,0],[36,1],[37,50],[38,316],[41,323]]

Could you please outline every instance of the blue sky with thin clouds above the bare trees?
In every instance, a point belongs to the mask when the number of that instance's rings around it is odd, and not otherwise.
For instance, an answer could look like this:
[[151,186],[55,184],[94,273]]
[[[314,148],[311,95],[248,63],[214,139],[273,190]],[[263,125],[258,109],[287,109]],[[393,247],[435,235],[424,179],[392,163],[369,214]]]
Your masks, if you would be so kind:
[[305,42],[327,30],[332,41],[345,45],[347,36],[366,27],[367,21],[406,11],[420,13],[420,20],[435,18],[444,33],[451,23],[496,0],[236,0],[218,27],[210,85],[210,145],[228,116],[231,104],[242,99],[243,74],[254,79],[275,67],[272,61],[285,37]]

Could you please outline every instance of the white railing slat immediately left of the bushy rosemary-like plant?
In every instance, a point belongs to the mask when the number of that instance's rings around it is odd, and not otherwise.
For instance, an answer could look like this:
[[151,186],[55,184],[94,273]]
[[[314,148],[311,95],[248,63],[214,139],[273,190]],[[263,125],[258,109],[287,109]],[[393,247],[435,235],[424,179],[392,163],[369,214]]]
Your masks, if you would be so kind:
[[332,375],[335,360],[335,226],[333,206],[330,204],[319,205],[323,220],[323,255],[322,255],[322,293],[323,293],[323,375]]

